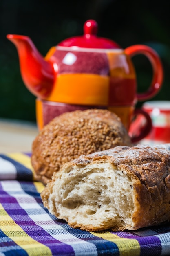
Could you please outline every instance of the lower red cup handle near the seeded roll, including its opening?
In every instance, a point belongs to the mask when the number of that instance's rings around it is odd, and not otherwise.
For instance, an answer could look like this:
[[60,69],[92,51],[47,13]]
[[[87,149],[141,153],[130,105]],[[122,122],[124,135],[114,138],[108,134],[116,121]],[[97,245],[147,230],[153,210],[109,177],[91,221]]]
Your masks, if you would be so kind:
[[[133,116],[136,117],[130,124],[129,135],[132,143],[144,139],[152,129],[150,115],[142,109],[135,109]],[[143,120],[145,119],[145,122]],[[142,124],[144,123],[144,124]]]

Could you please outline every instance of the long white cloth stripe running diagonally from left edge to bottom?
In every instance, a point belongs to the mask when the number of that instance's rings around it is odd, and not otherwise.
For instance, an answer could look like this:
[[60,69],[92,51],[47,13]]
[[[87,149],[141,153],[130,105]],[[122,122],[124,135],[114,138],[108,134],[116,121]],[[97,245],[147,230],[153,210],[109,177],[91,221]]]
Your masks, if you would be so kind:
[[[35,222],[36,225],[42,227],[43,229],[45,228],[44,230],[48,232],[53,238],[59,240],[62,243],[71,245],[75,252],[75,256],[98,255],[97,248],[93,243],[84,241],[69,233],[66,229],[55,223],[44,209],[42,209],[41,214],[30,215],[30,210],[28,208],[24,208],[25,203],[23,203],[23,197],[24,199],[27,198],[27,202],[30,202],[30,209],[32,208],[32,203],[37,204],[38,209],[40,208],[40,205],[36,202],[35,198],[25,193],[18,181],[12,181],[12,185],[10,181],[2,181],[1,184],[3,190],[9,195],[15,197],[20,207],[22,207],[22,209],[27,212],[28,216]],[[46,229],[47,225],[48,229]],[[54,230],[56,232],[54,232]]]

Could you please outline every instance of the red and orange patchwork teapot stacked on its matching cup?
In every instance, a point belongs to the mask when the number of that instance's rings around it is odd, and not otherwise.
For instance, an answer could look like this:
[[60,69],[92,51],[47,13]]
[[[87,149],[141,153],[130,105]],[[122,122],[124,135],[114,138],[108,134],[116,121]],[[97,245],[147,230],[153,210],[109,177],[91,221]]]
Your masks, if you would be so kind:
[[[127,130],[137,113],[137,101],[150,99],[160,90],[163,67],[158,54],[146,45],[122,49],[117,43],[97,36],[97,22],[87,20],[84,35],[68,38],[52,47],[45,58],[28,36],[7,35],[17,47],[22,79],[37,97],[36,117],[39,129],[66,111],[106,108],[115,112]],[[137,92],[137,79],[131,57],[144,54],[153,70],[152,83]],[[146,127],[132,141],[150,131]]]

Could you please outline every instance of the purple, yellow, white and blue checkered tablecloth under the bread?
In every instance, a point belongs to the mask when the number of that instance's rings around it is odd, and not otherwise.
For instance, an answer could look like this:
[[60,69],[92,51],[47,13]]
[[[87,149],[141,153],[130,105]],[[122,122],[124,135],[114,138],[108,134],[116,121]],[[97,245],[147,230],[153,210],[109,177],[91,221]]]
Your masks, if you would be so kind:
[[30,155],[0,154],[0,256],[170,255],[170,225],[138,231],[86,232],[51,215]]

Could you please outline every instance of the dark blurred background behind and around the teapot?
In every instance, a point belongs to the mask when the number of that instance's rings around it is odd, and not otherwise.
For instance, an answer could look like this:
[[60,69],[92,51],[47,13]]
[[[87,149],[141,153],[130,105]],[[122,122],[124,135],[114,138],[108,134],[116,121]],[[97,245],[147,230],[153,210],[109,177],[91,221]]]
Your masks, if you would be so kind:
[[[97,21],[98,36],[115,40],[123,48],[145,44],[155,49],[163,63],[164,81],[153,99],[170,100],[168,5],[165,0],[0,0],[0,118],[35,121],[35,97],[24,86],[16,48],[6,35],[29,36],[45,56],[65,38],[83,34],[88,19]],[[144,56],[132,61],[138,92],[142,92],[151,82],[152,68]]]

